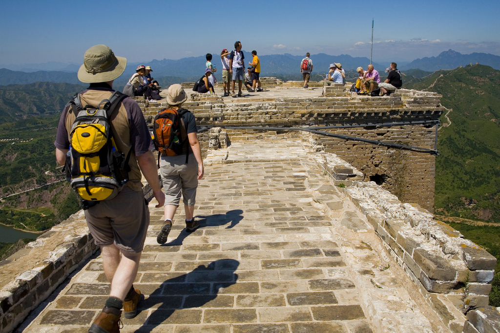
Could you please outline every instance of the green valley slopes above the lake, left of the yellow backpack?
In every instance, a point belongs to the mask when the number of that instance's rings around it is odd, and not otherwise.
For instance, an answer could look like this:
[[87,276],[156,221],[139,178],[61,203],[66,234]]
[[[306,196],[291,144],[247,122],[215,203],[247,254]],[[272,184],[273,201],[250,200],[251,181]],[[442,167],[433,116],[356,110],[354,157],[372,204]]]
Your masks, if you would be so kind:
[[55,162],[59,115],[0,124],[0,223],[45,230],[79,209]]

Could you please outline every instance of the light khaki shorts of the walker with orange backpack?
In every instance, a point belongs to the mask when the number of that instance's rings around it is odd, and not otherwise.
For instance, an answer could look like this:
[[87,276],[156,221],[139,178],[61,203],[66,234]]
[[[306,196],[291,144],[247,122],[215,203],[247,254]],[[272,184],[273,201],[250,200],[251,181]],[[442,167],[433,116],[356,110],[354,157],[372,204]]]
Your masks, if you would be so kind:
[[198,162],[192,153],[189,154],[187,164],[185,161],[185,155],[161,155],[159,160],[159,173],[163,181],[165,204],[178,206],[181,193],[182,202],[185,205],[193,206],[196,201]]

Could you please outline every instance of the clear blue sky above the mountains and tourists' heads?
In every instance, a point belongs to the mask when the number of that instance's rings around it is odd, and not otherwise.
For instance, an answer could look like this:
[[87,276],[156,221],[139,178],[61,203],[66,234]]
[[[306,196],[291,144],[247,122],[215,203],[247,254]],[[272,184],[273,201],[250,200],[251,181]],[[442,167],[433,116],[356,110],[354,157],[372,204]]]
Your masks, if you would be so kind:
[[81,63],[106,44],[130,62],[219,53],[240,40],[259,54],[305,52],[403,61],[500,55],[500,1],[0,0],[0,63]]

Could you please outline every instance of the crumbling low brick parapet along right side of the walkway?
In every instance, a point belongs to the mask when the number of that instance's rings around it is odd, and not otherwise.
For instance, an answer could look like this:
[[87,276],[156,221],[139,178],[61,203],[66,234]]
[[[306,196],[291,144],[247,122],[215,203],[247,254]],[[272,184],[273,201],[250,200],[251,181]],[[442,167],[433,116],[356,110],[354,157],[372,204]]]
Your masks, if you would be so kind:
[[[480,328],[500,322],[500,313],[487,306],[494,256],[418,205],[402,203],[376,183],[362,181],[362,173],[338,156],[321,153],[314,158],[336,185],[346,185],[338,188],[364,214],[389,254],[452,332],[462,328],[465,333],[494,332]],[[338,203],[326,202],[331,210],[338,209],[335,204],[341,207]],[[467,313],[464,326],[462,313],[470,308],[479,309]]]

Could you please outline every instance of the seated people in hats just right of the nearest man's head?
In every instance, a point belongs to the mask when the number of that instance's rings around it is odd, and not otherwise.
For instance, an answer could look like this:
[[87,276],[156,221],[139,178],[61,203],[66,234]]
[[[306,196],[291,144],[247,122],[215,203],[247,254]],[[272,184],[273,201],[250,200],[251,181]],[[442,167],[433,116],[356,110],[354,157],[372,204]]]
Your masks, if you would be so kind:
[[160,99],[161,86],[151,77],[150,66],[138,65],[135,73],[123,88],[123,93],[129,96],[145,96],[150,102]]

